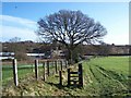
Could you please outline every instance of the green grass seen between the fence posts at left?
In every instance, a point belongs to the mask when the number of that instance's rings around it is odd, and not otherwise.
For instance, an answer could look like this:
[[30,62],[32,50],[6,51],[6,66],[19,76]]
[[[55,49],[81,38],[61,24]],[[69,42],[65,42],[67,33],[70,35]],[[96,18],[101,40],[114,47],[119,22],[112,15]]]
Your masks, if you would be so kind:
[[[50,63],[51,73],[55,72],[55,66]],[[58,68],[60,69],[60,66]],[[43,64],[39,63],[38,70],[43,72]],[[25,77],[25,75],[34,75],[35,65],[34,64],[17,64],[17,76],[19,78]],[[2,65],[2,85],[7,85],[13,81],[13,66],[12,65]]]

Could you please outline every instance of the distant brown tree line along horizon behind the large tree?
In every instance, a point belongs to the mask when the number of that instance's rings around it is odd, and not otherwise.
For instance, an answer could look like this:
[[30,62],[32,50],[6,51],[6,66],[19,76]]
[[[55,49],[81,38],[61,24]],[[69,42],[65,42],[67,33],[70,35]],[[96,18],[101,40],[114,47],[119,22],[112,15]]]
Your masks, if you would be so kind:
[[[66,58],[68,59],[68,50],[62,44],[52,42],[33,42],[33,41],[7,41],[2,42],[3,52],[14,52],[17,60],[28,60],[26,56],[28,52],[50,54],[51,50],[58,47],[59,50],[63,50]],[[128,54],[130,46],[115,46],[115,45],[79,45],[73,50],[73,59],[79,60],[84,54],[94,56],[110,56],[110,54]]]

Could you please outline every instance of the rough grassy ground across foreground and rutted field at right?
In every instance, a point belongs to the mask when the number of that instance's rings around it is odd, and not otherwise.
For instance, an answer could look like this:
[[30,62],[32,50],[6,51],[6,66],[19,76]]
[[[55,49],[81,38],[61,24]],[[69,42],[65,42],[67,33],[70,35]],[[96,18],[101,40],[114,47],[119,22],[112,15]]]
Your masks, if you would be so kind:
[[[83,61],[84,87],[71,88],[63,79],[63,86],[59,86],[59,77],[51,75],[44,82],[34,81],[33,76],[23,78],[20,86],[11,86],[3,90],[4,95],[22,96],[127,96],[129,94],[129,57],[105,57]],[[32,71],[32,70],[31,70]],[[9,71],[10,72],[10,71]],[[9,72],[3,69],[4,76]],[[29,70],[27,70],[29,73]],[[66,71],[67,72],[67,71]],[[20,73],[20,75],[25,72]],[[43,72],[39,74],[43,78]],[[7,76],[8,78],[8,76]],[[4,81],[3,81],[4,82]],[[13,93],[12,93],[13,90]]]

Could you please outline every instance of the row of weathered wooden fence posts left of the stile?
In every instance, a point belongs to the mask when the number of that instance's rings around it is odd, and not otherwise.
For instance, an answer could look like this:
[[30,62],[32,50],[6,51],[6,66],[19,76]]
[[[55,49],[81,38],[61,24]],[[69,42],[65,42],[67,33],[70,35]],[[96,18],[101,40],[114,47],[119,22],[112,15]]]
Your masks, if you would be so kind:
[[[61,71],[63,70],[63,65],[67,69],[68,64],[67,61],[61,61],[61,60],[35,60],[34,64],[31,65],[31,70],[32,72],[35,73],[35,78],[36,81],[38,81],[38,66],[40,65],[40,63],[43,64],[43,79],[46,81],[47,76],[51,75],[50,71],[52,72],[52,74],[57,74],[59,71],[60,77],[61,77]],[[51,68],[50,68],[51,65]],[[14,84],[15,86],[19,85],[19,79],[17,79],[17,62],[16,59],[13,59],[13,79],[14,79]],[[62,78],[60,78],[61,81],[61,85],[62,85]]]

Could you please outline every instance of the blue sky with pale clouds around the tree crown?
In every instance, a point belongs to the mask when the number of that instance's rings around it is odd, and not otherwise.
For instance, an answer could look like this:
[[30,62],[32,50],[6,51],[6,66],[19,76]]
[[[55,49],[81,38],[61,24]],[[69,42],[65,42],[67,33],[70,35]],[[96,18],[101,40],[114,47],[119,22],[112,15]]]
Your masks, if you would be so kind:
[[129,45],[128,2],[3,2],[0,41],[8,41],[13,37],[36,41],[37,21],[63,9],[81,10],[96,22],[100,22],[108,32],[104,37],[105,42]]

